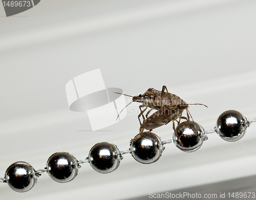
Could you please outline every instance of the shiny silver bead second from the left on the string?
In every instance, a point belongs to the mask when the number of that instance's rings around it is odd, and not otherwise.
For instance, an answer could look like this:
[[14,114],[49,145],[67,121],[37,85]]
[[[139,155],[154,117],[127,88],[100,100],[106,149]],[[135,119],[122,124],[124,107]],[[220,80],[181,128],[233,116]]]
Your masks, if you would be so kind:
[[78,161],[67,152],[54,153],[47,161],[49,176],[59,183],[66,183],[75,179],[78,173]]

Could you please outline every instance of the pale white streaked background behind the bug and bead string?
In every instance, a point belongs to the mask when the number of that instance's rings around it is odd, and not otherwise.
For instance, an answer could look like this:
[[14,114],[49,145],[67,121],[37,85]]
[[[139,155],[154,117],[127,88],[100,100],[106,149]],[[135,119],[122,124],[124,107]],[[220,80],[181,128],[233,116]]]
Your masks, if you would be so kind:
[[[139,104],[130,105],[120,122],[96,132],[86,112],[69,110],[66,83],[97,68],[106,87],[129,95],[166,85],[187,102],[206,104],[209,108],[190,106],[205,130],[213,129],[226,110],[256,117],[255,13],[253,0],[42,0],[11,17],[0,6],[0,177],[16,161],[44,168],[59,151],[85,159],[101,141],[129,148],[138,134]],[[252,176],[255,131],[252,123],[237,142],[209,134],[194,153],[166,144],[162,157],[150,165],[125,154],[109,174],[85,163],[65,184],[45,172],[26,193],[1,183],[1,199],[126,199]],[[172,124],[153,132],[168,140]]]

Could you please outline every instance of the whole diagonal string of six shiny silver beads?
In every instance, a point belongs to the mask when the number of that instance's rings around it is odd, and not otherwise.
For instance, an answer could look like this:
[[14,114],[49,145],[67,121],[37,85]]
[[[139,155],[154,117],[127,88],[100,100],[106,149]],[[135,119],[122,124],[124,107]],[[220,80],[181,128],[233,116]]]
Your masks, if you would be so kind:
[[66,183],[75,179],[82,163],[89,162],[94,170],[109,173],[118,168],[122,155],[127,153],[140,163],[150,164],[161,157],[164,144],[174,142],[181,151],[194,152],[208,139],[206,134],[216,132],[226,141],[237,141],[244,136],[250,123],[255,121],[248,120],[238,111],[228,110],[219,116],[214,130],[204,131],[198,123],[184,121],[177,126],[177,135],[173,134],[172,139],[162,141],[152,132],[143,132],[131,140],[130,148],[126,151],[119,151],[115,144],[100,142],[91,148],[85,160],[78,161],[67,152],[57,152],[50,156],[46,167],[40,170],[35,170],[26,162],[15,162],[8,167],[5,178],[1,178],[0,182],[8,183],[17,192],[26,192],[35,185],[41,173],[47,171],[54,181]]

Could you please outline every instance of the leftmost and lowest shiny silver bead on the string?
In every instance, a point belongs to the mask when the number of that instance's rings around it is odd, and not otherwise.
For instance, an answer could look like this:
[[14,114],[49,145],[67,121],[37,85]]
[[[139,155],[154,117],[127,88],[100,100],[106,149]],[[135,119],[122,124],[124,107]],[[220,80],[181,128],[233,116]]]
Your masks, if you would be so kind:
[[8,185],[17,192],[29,191],[37,181],[35,169],[26,162],[15,162],[5,172]]

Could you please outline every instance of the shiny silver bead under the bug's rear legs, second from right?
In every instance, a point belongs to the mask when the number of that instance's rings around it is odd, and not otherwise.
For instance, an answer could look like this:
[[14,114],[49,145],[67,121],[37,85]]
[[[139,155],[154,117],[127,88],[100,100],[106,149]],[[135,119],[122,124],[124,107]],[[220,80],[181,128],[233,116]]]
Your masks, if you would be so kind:
[[176,128],[177,136],[174,133],[174,143],[183,152],[195,152],[201,147],[204,141],[204,129],[194,121],[183,121]]

